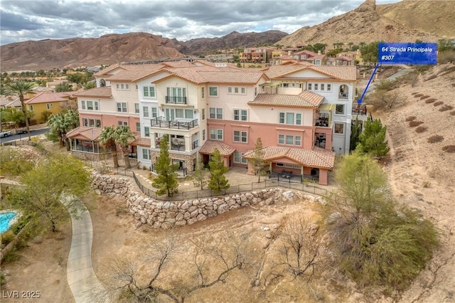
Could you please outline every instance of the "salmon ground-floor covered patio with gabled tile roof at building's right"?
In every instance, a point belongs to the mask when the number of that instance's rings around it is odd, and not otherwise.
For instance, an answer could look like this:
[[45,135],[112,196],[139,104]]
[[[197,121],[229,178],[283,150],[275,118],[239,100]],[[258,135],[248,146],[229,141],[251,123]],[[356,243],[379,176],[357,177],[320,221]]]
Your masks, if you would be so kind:
[[[264,147],[264,160],[269,163],[269,177],[278,181],[302,182],[304,179],[317,180],[328,184],[328,171],[333,169],[335,153],[319,147],[292,149],[289,147]],[[248,174],[255,174],[252,166],[255,153],[248,151]]]

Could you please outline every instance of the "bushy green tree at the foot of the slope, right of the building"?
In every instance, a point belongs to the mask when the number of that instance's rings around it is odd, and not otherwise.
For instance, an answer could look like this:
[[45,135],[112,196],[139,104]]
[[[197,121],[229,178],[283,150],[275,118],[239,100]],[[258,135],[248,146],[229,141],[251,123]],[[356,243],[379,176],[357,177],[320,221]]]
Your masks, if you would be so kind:
[[380,119],[371,121],[367,119],[363,132],[359,135],[359,151],[371,154],[375,157],[385,156],[390,148],[385,140],[387,127],[382,126]]

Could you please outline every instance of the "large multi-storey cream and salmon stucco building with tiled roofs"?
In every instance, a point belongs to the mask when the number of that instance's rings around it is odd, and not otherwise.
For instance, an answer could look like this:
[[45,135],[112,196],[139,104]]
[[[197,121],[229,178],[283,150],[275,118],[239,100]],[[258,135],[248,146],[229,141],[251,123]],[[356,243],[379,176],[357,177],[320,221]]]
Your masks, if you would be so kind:
[[108,125],[137,133],[131,156],[154,169],[159,142],[169,138],[173,163],[186,174],[218,149],[225,166],[245,166],[262,139],[270,171],[327,184],[335,154],[349,150],[355,66],[272,65],[262,70],[204,61],[112,65],[97,88],[78,92],[72,149],[90,158]]

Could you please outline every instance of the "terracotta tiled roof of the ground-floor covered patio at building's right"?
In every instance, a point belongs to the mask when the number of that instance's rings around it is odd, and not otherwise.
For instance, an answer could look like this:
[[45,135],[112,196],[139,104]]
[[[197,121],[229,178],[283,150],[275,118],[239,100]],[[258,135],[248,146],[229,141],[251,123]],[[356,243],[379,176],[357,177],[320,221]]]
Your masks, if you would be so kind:
[[[335,153],[326,149],[314,147],[309,149],[291,149],[289,147],[264,147],[264,160],[273,161],[276,159],[287,158],[306,167],[316,167],[321,169],[333,169],[335,164]],[[252,159],[254,151],[249,151],[243,155],[245,159]]]

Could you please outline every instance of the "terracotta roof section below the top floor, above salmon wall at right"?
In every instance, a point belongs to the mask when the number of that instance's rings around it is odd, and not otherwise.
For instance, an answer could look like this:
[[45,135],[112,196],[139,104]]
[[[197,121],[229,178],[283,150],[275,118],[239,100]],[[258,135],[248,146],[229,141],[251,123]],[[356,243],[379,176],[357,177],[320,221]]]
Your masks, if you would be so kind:
[[305,90],[299,95],[257,94],[248,105],[271,105],[286,107],[318,107],[324,97]]

